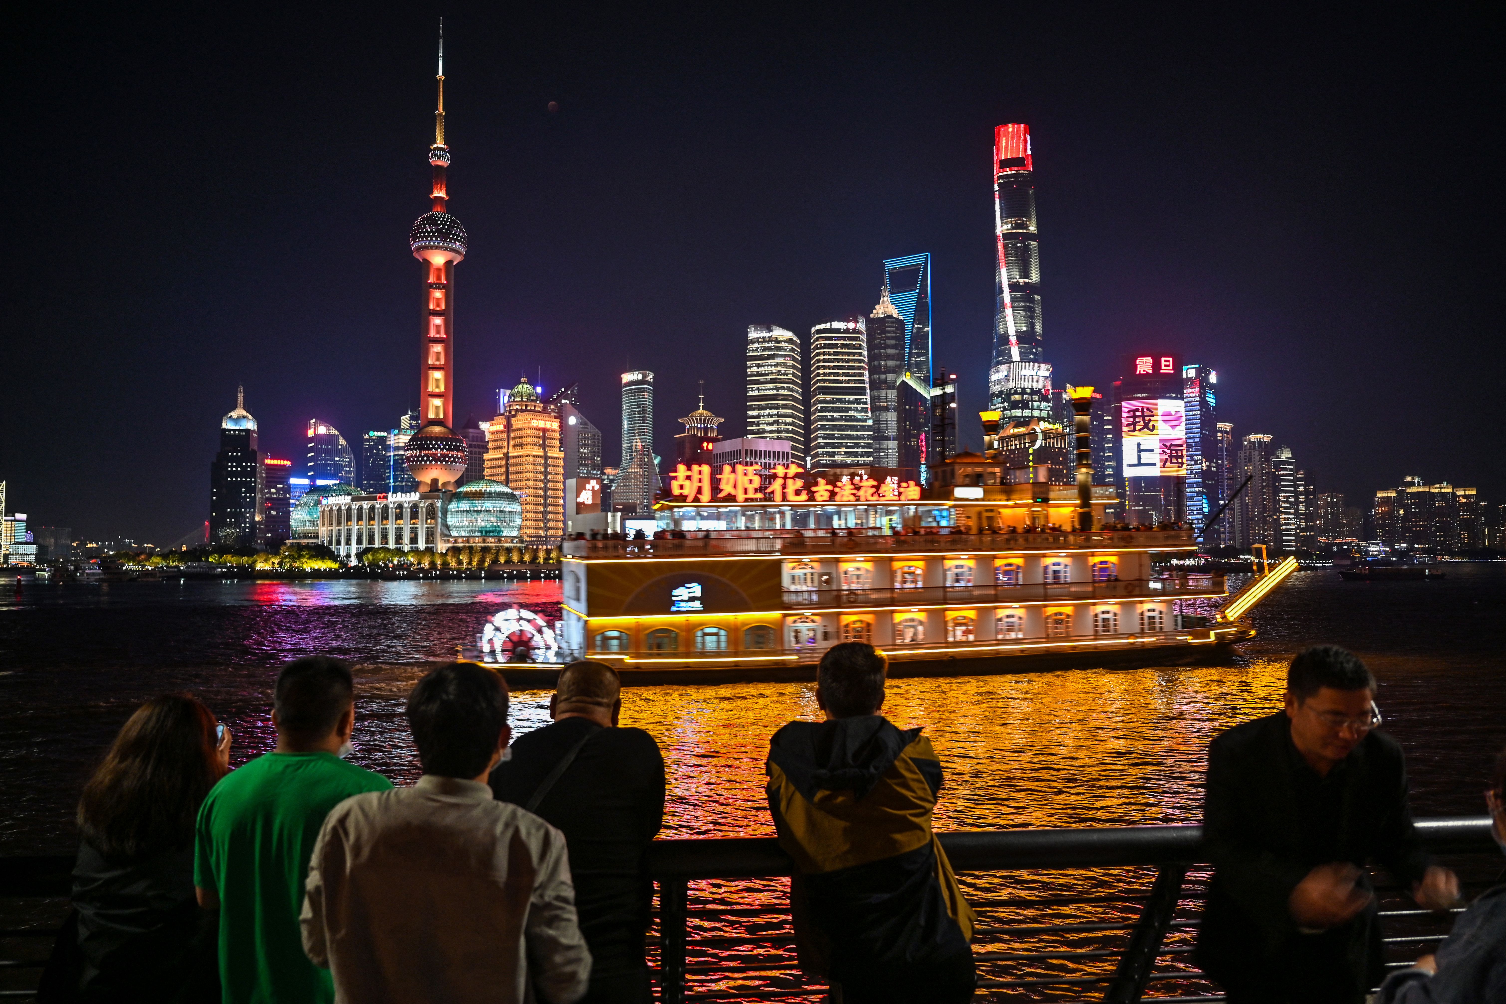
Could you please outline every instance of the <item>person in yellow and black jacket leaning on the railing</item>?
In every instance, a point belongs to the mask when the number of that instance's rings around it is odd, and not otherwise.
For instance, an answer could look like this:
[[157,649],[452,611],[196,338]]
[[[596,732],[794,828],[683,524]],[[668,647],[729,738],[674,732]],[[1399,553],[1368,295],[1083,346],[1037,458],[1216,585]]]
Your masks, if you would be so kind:
[[973,911],[931,832],[941,763],[920,729],[878,713],[887,668],[870,644],[831,646],[816,671],[827,720],[792,721],[770,742],[800,965],[842,1004],[965,1001]]

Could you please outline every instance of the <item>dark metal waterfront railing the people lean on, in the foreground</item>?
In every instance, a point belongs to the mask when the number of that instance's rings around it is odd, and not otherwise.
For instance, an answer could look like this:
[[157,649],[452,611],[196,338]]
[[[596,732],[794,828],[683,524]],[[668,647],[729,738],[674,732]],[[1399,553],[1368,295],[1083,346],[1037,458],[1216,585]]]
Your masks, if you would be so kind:
[[[1459,866],[1480,861],[1494,876],[1500,855],[1489,817],[1417,820],[1429,850]],[[940,835],[977,911],[979,999],[1221,1001],[1197,969],[1194,936],[1206,894],[1202,828],[1005,829]],[[1489,855],[1473,856],[1473,855]],[[1489,866],[1483,863],[1489,861]],[[35,996],[72,856],[0,858],[0,998]],[[774,838],[657,840],[649,870],[658,914],[649,959],[661,1004],[699,1001],[819,1001],[825,984],[800,971],[783,879],[792,863]],[[1485,882],[1470,881],[1474,891]],[[1024,887],[1009,894],[1008,885]],[[1390,968],[1432,951],[1459,909],[1419,909],[1378,882]],[[42,917],[51,902],[50,921]],[[21,918],[23,923],[17,923]]]

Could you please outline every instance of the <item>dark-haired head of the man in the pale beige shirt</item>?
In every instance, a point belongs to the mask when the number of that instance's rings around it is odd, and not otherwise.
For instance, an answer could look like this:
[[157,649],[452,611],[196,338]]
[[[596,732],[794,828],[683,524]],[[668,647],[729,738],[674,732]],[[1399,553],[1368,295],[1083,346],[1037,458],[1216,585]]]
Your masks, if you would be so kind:
[[431,670],[408,695],[408,727],[425,774],[473,778],[508,724],[508,685],[474,662]]

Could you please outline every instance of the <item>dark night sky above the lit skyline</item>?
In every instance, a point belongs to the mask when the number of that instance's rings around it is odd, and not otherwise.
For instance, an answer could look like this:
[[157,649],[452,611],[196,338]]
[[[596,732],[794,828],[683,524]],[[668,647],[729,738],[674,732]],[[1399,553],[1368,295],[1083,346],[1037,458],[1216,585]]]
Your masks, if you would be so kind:
[[989,143],[1026,122],[1059,385],[1170,346],[1324,491],[1506,500],[1494,8],[636,6],[12,11],[12,509],[166,543],[238,379],[295,461],[310,417],[413,403],[441,14],[462,415],[580,381],[614,462],[631,354],[661,453],[697,379],[739,435],[745,327],[867,313],[916,251],[976,411]]

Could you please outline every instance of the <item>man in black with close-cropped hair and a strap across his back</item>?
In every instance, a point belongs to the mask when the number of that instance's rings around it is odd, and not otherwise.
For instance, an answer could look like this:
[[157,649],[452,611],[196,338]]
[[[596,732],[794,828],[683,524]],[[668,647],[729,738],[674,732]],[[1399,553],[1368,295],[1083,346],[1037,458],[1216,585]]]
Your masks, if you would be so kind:
[[560,671],[554,723],[514,741],[491,772],[491,790],[565,834],[575,914],[590,948],[590,987],[580,1004],[654,999],[645,933],[654,884],[645,864],[664,822],[664,757],[654,736],[622,729],[622,682],[604,662]]

